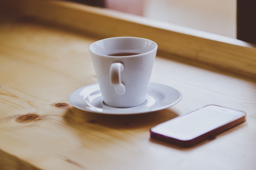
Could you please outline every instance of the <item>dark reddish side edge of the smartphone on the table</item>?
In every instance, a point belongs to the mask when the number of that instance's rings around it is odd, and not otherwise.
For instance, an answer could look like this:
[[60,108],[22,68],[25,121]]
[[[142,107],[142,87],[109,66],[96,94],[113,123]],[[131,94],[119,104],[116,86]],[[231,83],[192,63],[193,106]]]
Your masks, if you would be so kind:
[[156,140],[159,140],[162,142],[180,146],[182,148],[189,148],[189,147],[195,146],[197,144],[200,144],[201,142],[203,142],[207,139],[211,139],[212,137],[215,137],[216,135],[219,135],[220,133],[231,129],[232,127],[237,126],[238,124],[245,122],[245,120],[246,120],[245,116],[246,116],[246,113],[242,117],[240,117],[236,120],[233,120],[232,122],[229,122],[229,123],[227,123],[223,126],[220,126],[216,129],[213,129],[213,130],[211,130],[207,133],[204,133],[203,135],[200,135],[198,137],[195,137],[194,139],[191,139],[191,140],[184,141],[184,140],[175,139],[175,138],[168,137],[165,135],[157,134],[157,133],[153,132],[151,129],[150,129],[150,137],[152,139],[156,139]]

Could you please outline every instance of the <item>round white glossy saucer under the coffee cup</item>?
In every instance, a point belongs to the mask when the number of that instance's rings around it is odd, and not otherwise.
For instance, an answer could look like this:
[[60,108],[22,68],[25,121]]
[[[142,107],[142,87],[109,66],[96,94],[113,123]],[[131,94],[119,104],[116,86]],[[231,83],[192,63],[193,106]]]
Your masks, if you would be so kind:
[[182,94],[177,89],[159,83],[150,83],[146,101],[135,107],[111,107],[106,105],[98,84],[81,87],[70,94],[70,104],[84,111],[102,114],[139,114],[166,109],[177,104]]

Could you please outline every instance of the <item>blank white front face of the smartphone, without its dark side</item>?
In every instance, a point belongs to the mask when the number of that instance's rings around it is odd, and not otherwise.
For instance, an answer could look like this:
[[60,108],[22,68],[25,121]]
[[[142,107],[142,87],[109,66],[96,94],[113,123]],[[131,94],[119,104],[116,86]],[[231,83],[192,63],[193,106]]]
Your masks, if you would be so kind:
[[244,114],[243,111],[208,105],[184,116],[159,124],[151,130],[155,133],[186,141],[236,120]]

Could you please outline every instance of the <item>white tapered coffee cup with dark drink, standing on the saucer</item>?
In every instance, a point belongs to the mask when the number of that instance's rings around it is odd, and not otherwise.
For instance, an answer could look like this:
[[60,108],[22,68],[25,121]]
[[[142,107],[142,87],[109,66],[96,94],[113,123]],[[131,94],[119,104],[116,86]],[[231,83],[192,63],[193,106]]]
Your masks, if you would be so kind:
[[154,41],[112,37],[94,42],[89,49],[105,104],[135,107],[146,101],[157,52]]

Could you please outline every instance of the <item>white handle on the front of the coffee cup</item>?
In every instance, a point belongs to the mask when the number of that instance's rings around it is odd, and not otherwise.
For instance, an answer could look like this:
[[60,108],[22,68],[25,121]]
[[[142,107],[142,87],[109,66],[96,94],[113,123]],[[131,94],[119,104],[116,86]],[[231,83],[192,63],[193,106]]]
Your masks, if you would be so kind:
[[124,70],[122,63],[112,63],[110,65],[110,84],[115,86],[115,91],[118,95],[125,93],[125,86],[121,83],[121,72]]

